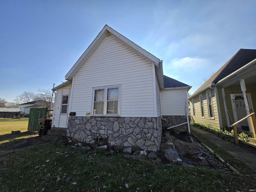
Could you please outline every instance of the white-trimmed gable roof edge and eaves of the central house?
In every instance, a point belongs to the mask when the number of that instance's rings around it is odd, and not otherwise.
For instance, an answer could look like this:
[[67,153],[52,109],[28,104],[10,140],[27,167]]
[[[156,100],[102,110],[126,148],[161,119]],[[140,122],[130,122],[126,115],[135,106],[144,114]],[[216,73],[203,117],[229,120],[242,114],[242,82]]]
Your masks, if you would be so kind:
[[162,71],[162,60],[158,59],[156,56],[152,55],[150,52],[147,52],[122,34],[118,33],[114,29],[110,28],[108,25],[105,25],[104,28],[100,31],[98,36],[93,40],[93,42],[90,44],[90,46],[86,49],[86,51],[82,54],[82,56],[78,59],[78,61],[74,64],[74,66],[69,70],[69,72],[66,74],[65,79],[72,81],[72,78],[74,75],[80,70],[80,68],[83,66],[83,64],[90,58],[92,53],[96,50],[96,48],[99,46],[99,44],[104,40],[104,38],[108,34],[112,34],[116,38],[118,38],[120,41],[122,41],[124,44],[132,48],[134,51],[138,52],[140,55],[142,55],[144,58],[148,59],[150,62],[155,64],[156,74],[158,81],[160,82],[161,88],[164,87],[164,80],[163,80],[163,71]]

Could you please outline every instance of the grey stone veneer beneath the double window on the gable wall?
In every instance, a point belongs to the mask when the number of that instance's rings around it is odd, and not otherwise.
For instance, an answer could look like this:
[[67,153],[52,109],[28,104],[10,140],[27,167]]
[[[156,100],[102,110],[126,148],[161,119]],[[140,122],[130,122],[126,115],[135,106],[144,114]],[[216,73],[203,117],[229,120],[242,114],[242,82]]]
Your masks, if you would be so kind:
[[160,149],[162,120],[159,117],[77,117],[68,118],[67,137],[92,144],[99,138],[110,146],[139,146]]

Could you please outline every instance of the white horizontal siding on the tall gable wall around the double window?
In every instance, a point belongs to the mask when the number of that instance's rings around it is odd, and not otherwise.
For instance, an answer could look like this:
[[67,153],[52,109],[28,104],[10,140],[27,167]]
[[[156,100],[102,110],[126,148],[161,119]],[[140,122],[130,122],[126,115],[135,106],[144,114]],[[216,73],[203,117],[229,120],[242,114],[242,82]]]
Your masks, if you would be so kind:
[[152,63],[107,36],[73,78],[71,111],[91,112],[94,87],[121,85],[121,116],[154,117]]

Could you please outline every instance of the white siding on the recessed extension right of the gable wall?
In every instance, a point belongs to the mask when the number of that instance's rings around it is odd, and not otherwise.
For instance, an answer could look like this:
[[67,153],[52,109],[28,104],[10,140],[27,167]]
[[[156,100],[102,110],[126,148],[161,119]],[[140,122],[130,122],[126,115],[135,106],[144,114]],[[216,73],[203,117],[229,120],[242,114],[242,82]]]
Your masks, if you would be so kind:
[[162,115],[186,115],[186,90],[161,91]]

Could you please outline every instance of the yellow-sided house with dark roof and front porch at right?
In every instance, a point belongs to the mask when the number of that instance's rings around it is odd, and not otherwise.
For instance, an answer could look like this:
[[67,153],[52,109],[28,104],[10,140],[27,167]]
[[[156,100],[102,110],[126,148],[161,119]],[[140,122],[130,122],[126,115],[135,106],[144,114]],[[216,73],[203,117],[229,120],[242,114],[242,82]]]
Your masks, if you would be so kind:
[[[256,106],[256,50],[240,49],[189,97],[191,118],[218,128],[230,127]],[[238,131],[252,133],[248,121]]]

